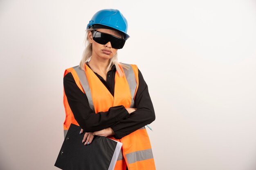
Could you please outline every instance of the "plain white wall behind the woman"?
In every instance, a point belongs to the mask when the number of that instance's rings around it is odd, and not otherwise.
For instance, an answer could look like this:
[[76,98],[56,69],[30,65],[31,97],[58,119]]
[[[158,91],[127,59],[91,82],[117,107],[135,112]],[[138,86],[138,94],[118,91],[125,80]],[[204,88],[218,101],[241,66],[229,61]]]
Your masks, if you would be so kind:
[[148,84],[157,170],[255,170],[254,0],[1,0],[0,169],[58,169],[63,73],[106,8],[129,23],[119,61]]

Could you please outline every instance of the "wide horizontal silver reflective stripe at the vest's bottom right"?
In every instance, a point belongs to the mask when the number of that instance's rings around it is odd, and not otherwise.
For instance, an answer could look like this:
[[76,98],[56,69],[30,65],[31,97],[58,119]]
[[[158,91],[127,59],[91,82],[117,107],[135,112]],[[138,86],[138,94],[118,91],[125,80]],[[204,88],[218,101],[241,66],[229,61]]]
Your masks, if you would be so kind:
[[144,161],[146,159],[153,159],[152,149],[139,150],[136,152],[126,154],[128,163],[135,163],[137,161]]

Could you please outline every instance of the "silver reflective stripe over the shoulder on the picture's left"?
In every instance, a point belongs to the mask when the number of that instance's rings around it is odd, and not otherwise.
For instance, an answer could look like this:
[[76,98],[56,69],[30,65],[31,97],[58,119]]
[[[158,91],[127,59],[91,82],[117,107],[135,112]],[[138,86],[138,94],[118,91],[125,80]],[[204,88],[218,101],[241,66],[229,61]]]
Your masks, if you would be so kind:
[[73,68],[76,71],[76,74],[79,77],[79,81],[80,81],[80,83],[81,83],[81,85],[83,87],[85,95],[88,98],[88,102],[89,102],[90,108],[92,109],[92,111],[95,112],[94,105],[93,105],[93,102],[92,102],[91,89],[90,89],[90,86],[88,84],[88,80],[87,80],[87,77],[86,77],[86,74],[85,74],[85,70],[82,70],[79,67],[79,65],[77,65],[77,66],[75,66]]

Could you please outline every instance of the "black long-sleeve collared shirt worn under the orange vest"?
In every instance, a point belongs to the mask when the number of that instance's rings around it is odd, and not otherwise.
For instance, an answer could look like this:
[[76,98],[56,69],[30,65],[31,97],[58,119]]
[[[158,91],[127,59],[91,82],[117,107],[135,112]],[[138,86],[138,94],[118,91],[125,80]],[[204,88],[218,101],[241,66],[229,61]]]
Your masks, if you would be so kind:
[[[112,96],[115,91],[115,72],[116,67],[113,65],[107,73],[107,81],[94,72]],[[88,98],[76,85],[71,73],[64,76],[63,85],[74,118],[85,132],[100,131],[111,127],[115,133],[114,137],[121,139],[155,120],[155,111],[148,93],[148,86],[140,71],[139,87],[135,96],[137,110],[130,114],[123,105],[110,107],[106,112],[95,114],[89,106]]]

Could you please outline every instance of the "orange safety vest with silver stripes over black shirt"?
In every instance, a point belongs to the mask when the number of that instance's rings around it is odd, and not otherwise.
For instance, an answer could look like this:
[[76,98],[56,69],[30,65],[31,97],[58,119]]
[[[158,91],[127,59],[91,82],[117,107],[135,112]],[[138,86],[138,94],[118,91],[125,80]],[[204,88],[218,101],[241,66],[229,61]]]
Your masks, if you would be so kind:
[[[130,66],[129,70],[123,70],[121,65],[119,65],[119,68],[125,76],[121,77],[117,72],[115,74],[114,97],[86,64],[85,70],[81,70],[79,65],[66,69],[64,76],[71,72],[76,85],[86,94],[89,105],[95,113],[108,111],[110,107],[118,105],[134,107],[134,99],[139,85],[138,68],[136,65],[126,65]],[[63,124],[65,135],[71,123],[78,126],[79,124],[76,122],[70,106],[68,105],[65,91],[63,104],[66,113],[65,122]],[[121,139],[115,139],[114,137],[109,138],[123,144],[114,170],[125,170],[126,165],[129,170],[155,170],[150,140],[145,127]]]

